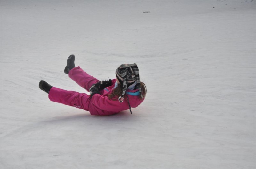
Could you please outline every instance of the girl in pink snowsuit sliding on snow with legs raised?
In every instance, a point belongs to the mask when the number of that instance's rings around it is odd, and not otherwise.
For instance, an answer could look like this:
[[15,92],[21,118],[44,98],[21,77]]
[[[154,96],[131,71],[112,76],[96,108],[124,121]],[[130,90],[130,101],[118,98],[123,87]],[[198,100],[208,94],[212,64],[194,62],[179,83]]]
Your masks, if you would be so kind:
[[99,81],[79,66],[75,67],[75,56],[70,55],[64,73],[90,95],[55,88],[43,80],[39,82],[39,88],[49,94],[51,101],[84,109],[91,115],[107,116],[127,109],[132,114],[131,107],[139,106],[147,93],[135,63],[120,65],[116,69],[116,79]]

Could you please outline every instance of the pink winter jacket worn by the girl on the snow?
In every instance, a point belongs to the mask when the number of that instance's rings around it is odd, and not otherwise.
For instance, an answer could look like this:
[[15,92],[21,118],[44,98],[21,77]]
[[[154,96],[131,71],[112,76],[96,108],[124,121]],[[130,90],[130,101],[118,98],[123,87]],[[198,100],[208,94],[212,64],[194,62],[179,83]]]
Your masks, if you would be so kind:
[[[111,86],[100,91],[101,95],[94,94],[92,96],[90,106],[89,106],[89,111],[92,115],[106,116],[106,115],[116,114],[120,111],[129,109],[129,105],[126,97],[124,97],[123,102],[119,102],[117,98],[116,100],[108,99],[108,94],[112,92],[112,90],[114,90],[113,88],[115,86],[115,83],[116,83],[116,79],[113,79]],[[137,91],[138,89],[127,90],[126,92],[134,93]],[[129,97],[130,106],[132,108],[139,106],[145,99],[143,98],[140,100],[140,96],[134,96],[129,94],[126,94],[126,96]]]

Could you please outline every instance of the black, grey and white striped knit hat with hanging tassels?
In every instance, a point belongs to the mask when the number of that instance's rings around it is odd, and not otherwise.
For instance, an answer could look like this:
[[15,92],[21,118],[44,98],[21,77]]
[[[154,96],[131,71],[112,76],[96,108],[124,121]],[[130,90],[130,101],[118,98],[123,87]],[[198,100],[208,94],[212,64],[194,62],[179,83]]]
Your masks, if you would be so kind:
[[140,88],[139,68],[134,64],[122,64],[116,69],[116,77],[123,89],[122,95],[119,97],[119,102],[123,102],[126,89],[136,82],[136,89],[140,92],[140,97],[143,98]]

